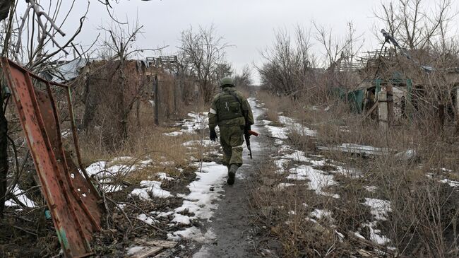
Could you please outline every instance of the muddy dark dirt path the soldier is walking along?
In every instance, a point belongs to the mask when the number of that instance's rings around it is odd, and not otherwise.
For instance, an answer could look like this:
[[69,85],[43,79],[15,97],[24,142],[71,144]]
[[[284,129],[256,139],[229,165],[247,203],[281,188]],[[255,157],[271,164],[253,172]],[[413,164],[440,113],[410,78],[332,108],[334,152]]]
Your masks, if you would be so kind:
[[[257,107],[254,99],[249,100],[256,125],[252,129],[266,134],[266,129],[260,124],[263,110]],[[266,161],[270,153],[268,138],[251,137],[251,148],[254,159],[250,159],[248,151],[244,150],[244,165],[237,172],[233,186],[226,185],[225,193],[217,202],[218,209],[212,222],[204,223],[207,235],[205,244],[193,254],[193,258],[207,257],[258,257],[254,252],[254,240],[251,235],[249,219],[249,190],[252,175],[258,164]]]

